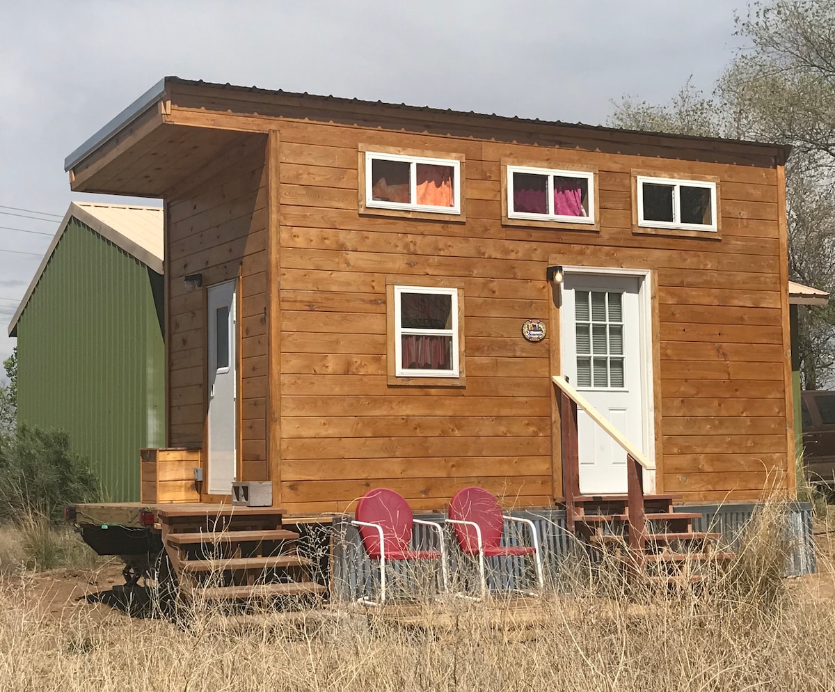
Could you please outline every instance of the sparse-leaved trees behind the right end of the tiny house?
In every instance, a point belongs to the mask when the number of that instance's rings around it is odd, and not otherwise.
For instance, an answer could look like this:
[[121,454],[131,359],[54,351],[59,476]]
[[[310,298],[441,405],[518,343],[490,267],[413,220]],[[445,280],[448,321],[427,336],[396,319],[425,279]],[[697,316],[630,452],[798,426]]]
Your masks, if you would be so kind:
[[[789,276],[835,294],[835,6],[829,0],[750,3],[746,40],[710,97],[690,81],[669,104],[626,96],[610,125],[792,145],[786,166]],[[801,382],[835,371],[835,305],[800,306]]]

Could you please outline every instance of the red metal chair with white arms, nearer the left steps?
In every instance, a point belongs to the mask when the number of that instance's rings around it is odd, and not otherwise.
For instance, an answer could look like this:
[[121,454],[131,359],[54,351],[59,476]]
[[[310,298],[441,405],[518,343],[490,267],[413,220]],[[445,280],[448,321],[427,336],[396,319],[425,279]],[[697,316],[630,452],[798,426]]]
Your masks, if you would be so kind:
[[[351,522],[359,528],[362,546],[368,557],[380,565],[379,600],[361,598],[363,603],[376,605],[386,602],[386,563],[390,560],[438,560],[441,567],[443,591],[448,590],[447,554],[443,529],[437,522],[415,519],[405,498],[388,488],[368,491],[357,503],[357,514]],[[438,533],[438,550],[412,550],[412,527],[422,524]]]

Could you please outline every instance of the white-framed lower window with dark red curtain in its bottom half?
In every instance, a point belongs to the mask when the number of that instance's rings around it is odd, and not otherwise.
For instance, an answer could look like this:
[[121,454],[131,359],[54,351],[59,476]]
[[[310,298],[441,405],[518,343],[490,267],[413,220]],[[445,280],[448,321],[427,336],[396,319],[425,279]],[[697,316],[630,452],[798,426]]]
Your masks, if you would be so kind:
[[397,377],[459,376],[458,289],[394,287]]

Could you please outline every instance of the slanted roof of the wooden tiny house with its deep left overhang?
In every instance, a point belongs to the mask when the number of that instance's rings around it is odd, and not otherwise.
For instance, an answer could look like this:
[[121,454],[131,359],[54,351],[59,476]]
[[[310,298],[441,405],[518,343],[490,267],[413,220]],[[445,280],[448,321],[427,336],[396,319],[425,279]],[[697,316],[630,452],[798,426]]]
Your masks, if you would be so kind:
[[618,130],[295,94],[166,77],[68,155],[73,191],[166,196],[241,137],[276,129],[277,119],[380,127],[519,144],[716,161],[782,165],[790,148],[740,140]]

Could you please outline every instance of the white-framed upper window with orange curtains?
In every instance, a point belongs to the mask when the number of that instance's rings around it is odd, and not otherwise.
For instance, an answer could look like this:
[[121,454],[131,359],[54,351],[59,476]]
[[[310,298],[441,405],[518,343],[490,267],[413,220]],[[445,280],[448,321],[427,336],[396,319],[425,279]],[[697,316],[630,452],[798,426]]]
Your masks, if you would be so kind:
[[366,206],[461,213],[461,161],[366,151]]

